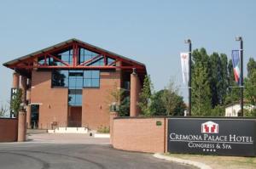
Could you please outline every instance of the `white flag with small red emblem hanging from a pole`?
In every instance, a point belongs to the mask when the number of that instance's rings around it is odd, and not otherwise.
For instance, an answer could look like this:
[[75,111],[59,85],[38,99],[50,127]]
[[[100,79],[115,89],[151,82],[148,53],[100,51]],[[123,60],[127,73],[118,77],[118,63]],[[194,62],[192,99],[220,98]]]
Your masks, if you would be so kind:
[[180,53],[183,83],[188,84],[189,82],[189,53]]

